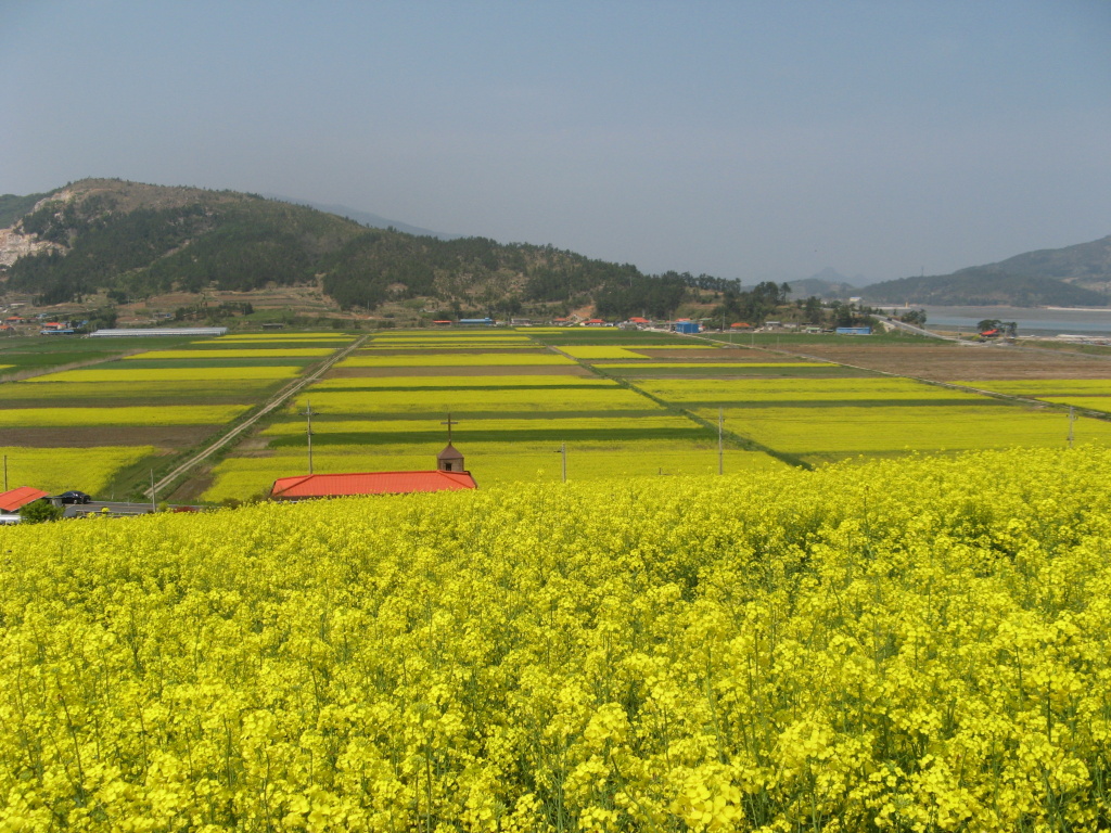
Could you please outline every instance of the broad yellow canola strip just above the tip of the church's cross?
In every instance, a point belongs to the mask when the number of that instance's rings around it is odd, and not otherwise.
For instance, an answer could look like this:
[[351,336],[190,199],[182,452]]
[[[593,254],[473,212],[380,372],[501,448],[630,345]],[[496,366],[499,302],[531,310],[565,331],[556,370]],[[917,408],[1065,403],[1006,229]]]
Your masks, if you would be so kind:
[[648,397],[624,388],[583,390],[518,390],[436,391],[303,391],[297,408],[307,402],[322,413],[454,413],[486,411],[654,411],[662,410]]

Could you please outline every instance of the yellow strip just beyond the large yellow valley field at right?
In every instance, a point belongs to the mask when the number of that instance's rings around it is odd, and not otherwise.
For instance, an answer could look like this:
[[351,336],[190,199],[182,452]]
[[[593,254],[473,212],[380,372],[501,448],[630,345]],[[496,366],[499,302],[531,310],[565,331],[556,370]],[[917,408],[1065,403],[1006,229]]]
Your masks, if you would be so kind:
[[823,402],[852,400],[993,400],[908,379],[669,379],[635,387],[669,402]]

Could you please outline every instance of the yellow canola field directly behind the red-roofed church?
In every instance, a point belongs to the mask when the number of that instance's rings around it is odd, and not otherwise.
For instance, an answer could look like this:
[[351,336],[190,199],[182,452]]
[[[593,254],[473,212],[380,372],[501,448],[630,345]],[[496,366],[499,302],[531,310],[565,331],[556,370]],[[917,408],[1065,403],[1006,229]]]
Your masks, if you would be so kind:
[[[437,425],[439,426],[439,425]],[[303,430],[303,426],[302,426]],[[316,431],[316,425],[313,425]],[[402,440],[398,436],[398,440]],[[562,441],[476,442],[458,445],[464,464],[482,489],[511,483],[552,483],[562,478]],[[429,443],[381,445],[317,445],[314,472],[427,471],[436,468],[443,440]],[[567,442],[568,479],[620,483],[629,478],[704,475],[718,472],[718,446],[695,440],[614,440]],[[784,469],[762,452],[724,450],[727,473]],[[214,482],[202,495],[206,501],[243,500],[268,492],[273,481],[308,471],[306,448],[280,448],[267,456],[229,458],[214,469]]]

